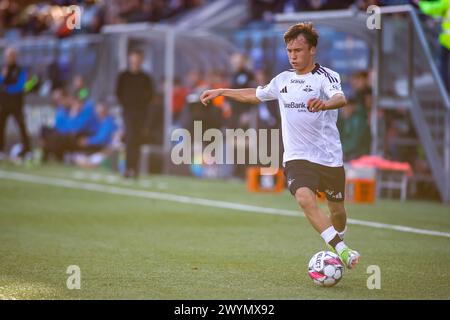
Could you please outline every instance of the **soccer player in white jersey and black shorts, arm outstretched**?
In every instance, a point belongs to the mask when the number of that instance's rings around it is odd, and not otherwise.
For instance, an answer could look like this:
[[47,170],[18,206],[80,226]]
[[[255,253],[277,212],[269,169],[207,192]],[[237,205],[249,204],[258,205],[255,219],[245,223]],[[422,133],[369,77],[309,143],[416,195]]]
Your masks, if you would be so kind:
[[[217,96],[243,103],[278,100],[284,145],[283,164],[290,192],[314,229],[352,269],[359,253],[344,243],[345,171],[336,126],[346,99],[339,74],[315,62],[318,34],[312,23],[293,25],[284,34],[293,69],[256,89],[215,89],[201,95],[206,105]],[[316,192],[326,194],[330,216],[317,205]]]

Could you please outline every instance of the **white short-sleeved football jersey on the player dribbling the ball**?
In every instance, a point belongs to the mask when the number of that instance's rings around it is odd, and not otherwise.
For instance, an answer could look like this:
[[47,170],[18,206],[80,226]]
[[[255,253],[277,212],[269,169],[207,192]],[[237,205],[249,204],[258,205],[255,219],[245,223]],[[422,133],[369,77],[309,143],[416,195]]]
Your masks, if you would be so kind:
[[284,145],[283,164],[308,160],[328,167],[343,165],[342,146],[336,126],[338,110],[310,112],[309,99],[328,100],[344,94],[339,74],[316,63],[310,73],[284,71],[256,89],[261,101],[278,99]]

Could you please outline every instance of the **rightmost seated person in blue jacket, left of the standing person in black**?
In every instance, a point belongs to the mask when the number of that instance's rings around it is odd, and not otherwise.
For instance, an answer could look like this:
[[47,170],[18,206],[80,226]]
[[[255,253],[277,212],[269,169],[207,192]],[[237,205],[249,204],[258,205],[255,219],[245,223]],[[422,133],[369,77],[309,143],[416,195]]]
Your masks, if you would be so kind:
[[97,130],[78,140],[78,150],[97,152],[107,148],[112,142],[117,125],[114,117],[108,112],[108,106],[103,102],[97,103],[95,114],[98,121]]

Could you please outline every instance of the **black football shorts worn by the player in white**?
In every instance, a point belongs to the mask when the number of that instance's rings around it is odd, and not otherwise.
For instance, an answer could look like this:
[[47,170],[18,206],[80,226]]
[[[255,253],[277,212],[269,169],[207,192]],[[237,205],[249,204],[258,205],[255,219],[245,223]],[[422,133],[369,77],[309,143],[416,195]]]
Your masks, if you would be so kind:
[[307,160],[292,160],[285,164],[289,191],[307,187],[314,193],[324,192],[328,201],[341,202],[345,198],[344,167],[328,167]]

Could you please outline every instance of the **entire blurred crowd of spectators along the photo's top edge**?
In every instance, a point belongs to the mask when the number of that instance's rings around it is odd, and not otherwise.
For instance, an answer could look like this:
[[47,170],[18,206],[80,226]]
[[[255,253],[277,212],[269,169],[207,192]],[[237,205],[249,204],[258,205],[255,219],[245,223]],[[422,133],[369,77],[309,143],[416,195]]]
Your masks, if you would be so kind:
[[[417,0],[414,0],[417,1]],[[71,0],[27,4],[25,1],[0,0],[0,35],[54,34],[67,37],[77,33],[97,33],[104,24],[159,22],[186,10],[201,6],[204,0]],[[253,20],[271,20],[273,13],[344,9],[352,3],[361,10],[375,5],[406,4],[409,0],[252,0]],[[81,29],[72,30],[73,20],[66,9],[78,5],[83,10]],[[3,33],[3,34],[2,34]]]

